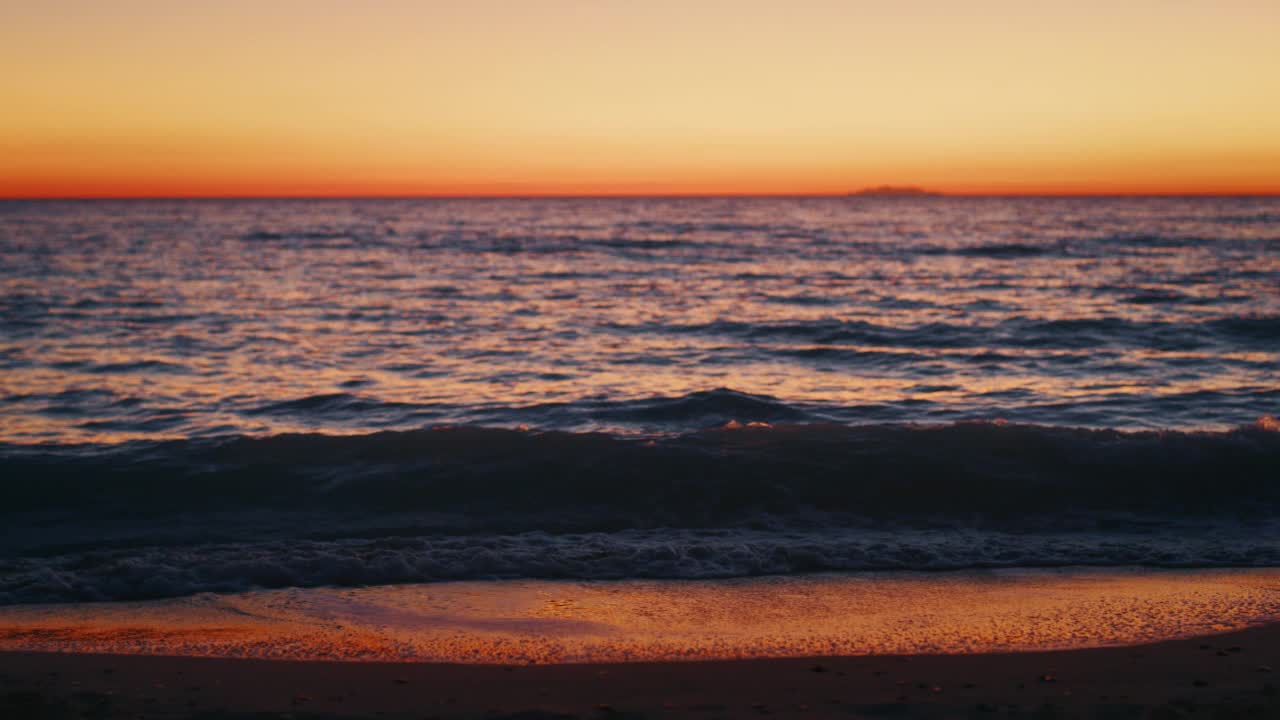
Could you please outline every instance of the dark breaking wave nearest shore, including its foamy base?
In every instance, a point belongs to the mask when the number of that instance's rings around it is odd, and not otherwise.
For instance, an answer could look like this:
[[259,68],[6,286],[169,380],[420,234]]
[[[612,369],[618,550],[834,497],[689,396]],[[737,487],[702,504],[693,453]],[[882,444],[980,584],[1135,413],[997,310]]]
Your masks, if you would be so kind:
[[5,446],[0,602],[479,578],[1275,565],[1277,428],[756,421],[667,437],[457,427]]

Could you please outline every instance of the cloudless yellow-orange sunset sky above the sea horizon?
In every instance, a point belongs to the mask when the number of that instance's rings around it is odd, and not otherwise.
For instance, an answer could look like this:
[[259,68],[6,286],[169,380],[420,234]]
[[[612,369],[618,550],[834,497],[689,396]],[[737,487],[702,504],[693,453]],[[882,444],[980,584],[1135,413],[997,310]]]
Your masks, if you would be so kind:
[[0,4],[0,197],[1280,192],[1277,0]]

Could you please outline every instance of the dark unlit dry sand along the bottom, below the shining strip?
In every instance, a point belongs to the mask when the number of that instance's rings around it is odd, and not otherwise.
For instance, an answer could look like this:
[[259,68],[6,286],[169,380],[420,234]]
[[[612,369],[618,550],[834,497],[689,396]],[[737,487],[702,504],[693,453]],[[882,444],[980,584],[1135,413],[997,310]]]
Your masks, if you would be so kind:
[[1056,652],[483,666],[0,653],[0,717],[1280,717],[1280,624]]

